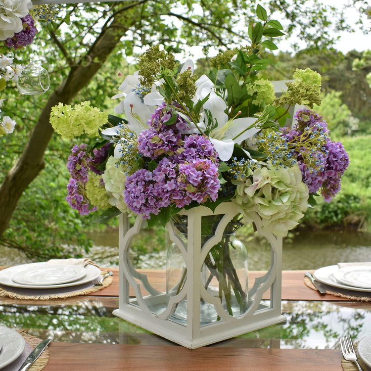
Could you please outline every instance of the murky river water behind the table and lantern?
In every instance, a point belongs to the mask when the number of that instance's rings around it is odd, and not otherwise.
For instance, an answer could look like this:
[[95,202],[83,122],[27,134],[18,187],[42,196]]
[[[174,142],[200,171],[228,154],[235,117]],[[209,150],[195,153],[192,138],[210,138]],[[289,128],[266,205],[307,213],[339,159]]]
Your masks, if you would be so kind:
[[[94,241],[89,257],[102,267],[118,267],[118,231],[110,229],[90,235]],[[250,270],[266,270],[270,266],[271,249],[256,238],[244,239]],[[371,261],[371,233],[353,230],[300,231],[283,241],[283,270],[318,269],[338,262]],[[0,265],[28,263],[22,253],[0,246]],[[163,269],[166,249],[147,254],[139,262],[140,268]]]

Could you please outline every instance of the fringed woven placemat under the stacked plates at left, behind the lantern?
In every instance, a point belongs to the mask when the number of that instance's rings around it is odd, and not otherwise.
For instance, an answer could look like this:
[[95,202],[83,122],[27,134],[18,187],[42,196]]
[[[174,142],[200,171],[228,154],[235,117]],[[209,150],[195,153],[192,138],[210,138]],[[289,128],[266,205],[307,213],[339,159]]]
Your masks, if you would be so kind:
[[[106,271],[102,271],[101,275],[103,276],[106,273]],[[113,281],[112,276],[108,276],[104,278],[102,285],[95,285],[90,287],[85,287],[83,289],[78,289],[76,291],[70,291],[70,292],[55,292],[55,293],[49,293],[49,294],[32,294],[32,295],[26,295],[24,293],[16,292],[17,290],[10,291],[6,290],[2,287],[0,287],[0,297],[9,297],[12,299],[22,299],[22,300],[50,300],[50,299],[66,299],[71,298],[74,296],[80,296],[80,295],[88,295],[93,292],[97,292],[99,290],[102,290],[105,287],[108,287]],[[92,283],[90,283],[91,285]],[[89,284],[88,284],[89,285]],[[70,289],[73,290],[72,286]],[[60,290],[60,289],[56,289]],[[39,292],[41,290],[38,290]],[[49,291],[49,290],[48,290]]]

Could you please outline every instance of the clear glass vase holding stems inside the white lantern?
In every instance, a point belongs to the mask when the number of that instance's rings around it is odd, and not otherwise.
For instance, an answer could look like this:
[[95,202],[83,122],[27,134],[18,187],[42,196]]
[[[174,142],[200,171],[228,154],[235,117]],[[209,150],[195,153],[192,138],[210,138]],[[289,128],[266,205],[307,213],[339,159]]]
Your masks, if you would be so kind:
[[[214,237],[221,216],[202,218],[201,249]],[[183,243],[187,244],[186,220],[175,223]],[[235,236],[241,224],[232,220],[225,228],[221,240],[207,252],[201,265],[200,277],[207,294],[218,298],[223,310],[230,316],[238,317],[248,309],[248,253],[244,244]],[[172,243],[167,253],[166,293],[168,298],[177,295],[184,287],[187,271],[184,257],[176,243]],[[186,298],[176,305],[172,319],[186,322]],[[206,325],[220,321],[213,303],[208,295],[200,299],[200,324]]]

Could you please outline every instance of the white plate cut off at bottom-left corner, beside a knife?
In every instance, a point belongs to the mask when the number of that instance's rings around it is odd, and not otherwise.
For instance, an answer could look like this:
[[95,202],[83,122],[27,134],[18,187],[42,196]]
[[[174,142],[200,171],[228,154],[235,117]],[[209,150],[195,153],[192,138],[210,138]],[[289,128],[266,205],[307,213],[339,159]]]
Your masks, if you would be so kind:
[[22,354],[26,343],[20,333],[3,326],[0,326],[0,340],[2,343],[0,369],[2,369]]

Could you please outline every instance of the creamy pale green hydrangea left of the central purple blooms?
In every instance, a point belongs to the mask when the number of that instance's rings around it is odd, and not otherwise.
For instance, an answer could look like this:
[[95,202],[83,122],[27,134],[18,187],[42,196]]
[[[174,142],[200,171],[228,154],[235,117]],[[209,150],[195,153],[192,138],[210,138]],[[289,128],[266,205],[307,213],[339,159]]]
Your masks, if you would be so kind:
[[124,166],[117,164],[117,160],[113,156],[109,157],[102,178],[104,187],[109,196],[108,203],[117,207],[122,213],[129,212],[130,210],[128,210],[124,201],[126,182]]

